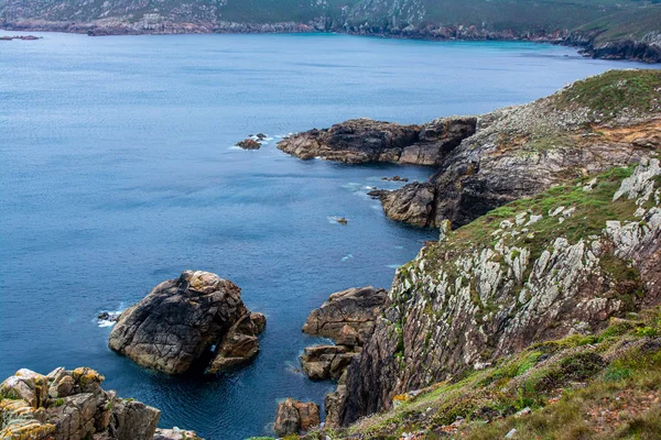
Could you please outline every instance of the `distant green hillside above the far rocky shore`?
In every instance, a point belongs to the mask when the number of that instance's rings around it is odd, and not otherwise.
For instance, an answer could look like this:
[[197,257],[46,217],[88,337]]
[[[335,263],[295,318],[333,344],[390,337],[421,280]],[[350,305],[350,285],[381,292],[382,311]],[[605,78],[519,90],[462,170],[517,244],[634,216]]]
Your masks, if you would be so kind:
[[[650,0],[0,0],[0,16],[53,21],[89,21],[159,13],[181,20],[225,20],[240,23],[307,22],[318,16],[336,24],[476,25],[495,30],[574,29],[626,12],[638,18]],[[653,20],[644,16],[646,22]],[[619,22],[618,22],[619,23]],[[658,22],[657,22],[658,23]]]

